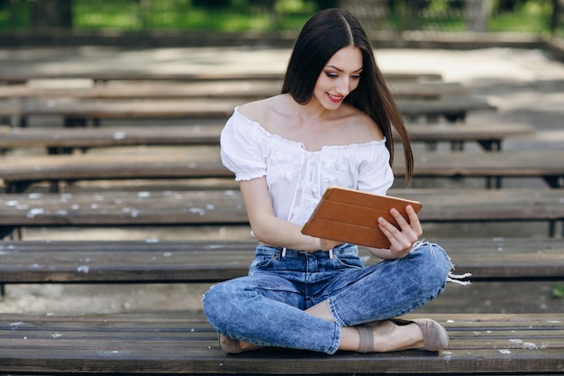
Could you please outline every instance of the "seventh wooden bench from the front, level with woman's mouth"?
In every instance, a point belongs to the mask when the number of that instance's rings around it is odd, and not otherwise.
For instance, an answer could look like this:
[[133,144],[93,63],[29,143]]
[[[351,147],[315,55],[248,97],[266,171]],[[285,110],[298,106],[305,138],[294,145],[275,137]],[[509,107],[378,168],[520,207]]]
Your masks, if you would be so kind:
[[[280,80],[225,80],[189,83],[113,83],[93,87],[51,87],[17,85],[0,86],[0,99],[80,98],[80,99],[134,99],[134,98],[247,98],[256,99],[280,93]],[[438,98],[468,94],[468,89],[456,82],[391,82],[396,97]]]

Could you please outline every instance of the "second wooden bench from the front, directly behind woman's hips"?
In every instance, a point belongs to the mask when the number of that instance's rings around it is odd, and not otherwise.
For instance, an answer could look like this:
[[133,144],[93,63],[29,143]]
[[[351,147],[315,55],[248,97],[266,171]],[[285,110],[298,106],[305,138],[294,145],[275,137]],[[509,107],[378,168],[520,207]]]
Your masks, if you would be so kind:
[[[471,280],[564,280],[562,239],[441,239]],[[0,283],[219,282],[247,274],[256,242],[5,241]],[[360,247],[367,265],[378,259]]]

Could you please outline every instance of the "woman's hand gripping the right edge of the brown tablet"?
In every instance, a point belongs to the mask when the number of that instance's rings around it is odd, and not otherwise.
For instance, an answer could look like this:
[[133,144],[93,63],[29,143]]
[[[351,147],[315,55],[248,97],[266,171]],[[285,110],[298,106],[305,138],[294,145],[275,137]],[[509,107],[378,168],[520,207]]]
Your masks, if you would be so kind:
[[404,258],[411,252],[412,245],[423,234],[423,228],[419,222],[419,217],[415,212],[413,206],[408,205],[405,207],[407,220],[402,216],[396,208],[390,210],[390,214],[396,218],[399,229],[390,224],[383,217],[378,218],[378,227],[387,236],[390,241],[390,251],[398,258]]

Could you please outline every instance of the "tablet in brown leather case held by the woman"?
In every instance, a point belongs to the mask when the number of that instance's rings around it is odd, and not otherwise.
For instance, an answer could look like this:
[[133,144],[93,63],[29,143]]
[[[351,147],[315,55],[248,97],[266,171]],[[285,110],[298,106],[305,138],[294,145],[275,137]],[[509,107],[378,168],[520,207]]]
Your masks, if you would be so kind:
[[389,223],[399,228],[396,219],[389,211],[392,207],[396,207],[402,216],[407,218],[405,206],[408,205],[413,206],[416,213],[423,207],[417,201],[404,198],[330,187],[302,227],[302,234],[387,249],[390,243],[378,228],[378,217],[386,218]]

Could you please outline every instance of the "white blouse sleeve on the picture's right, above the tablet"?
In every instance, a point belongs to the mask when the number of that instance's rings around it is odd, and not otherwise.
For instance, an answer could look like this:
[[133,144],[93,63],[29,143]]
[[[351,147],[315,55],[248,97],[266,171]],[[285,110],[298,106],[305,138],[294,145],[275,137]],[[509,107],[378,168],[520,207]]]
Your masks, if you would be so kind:
[[373,143],[373,150],[359,166],[358,189],[364,192],[386,195],[394,184],[394,172],[390,167],[390,153],[385,142]]

